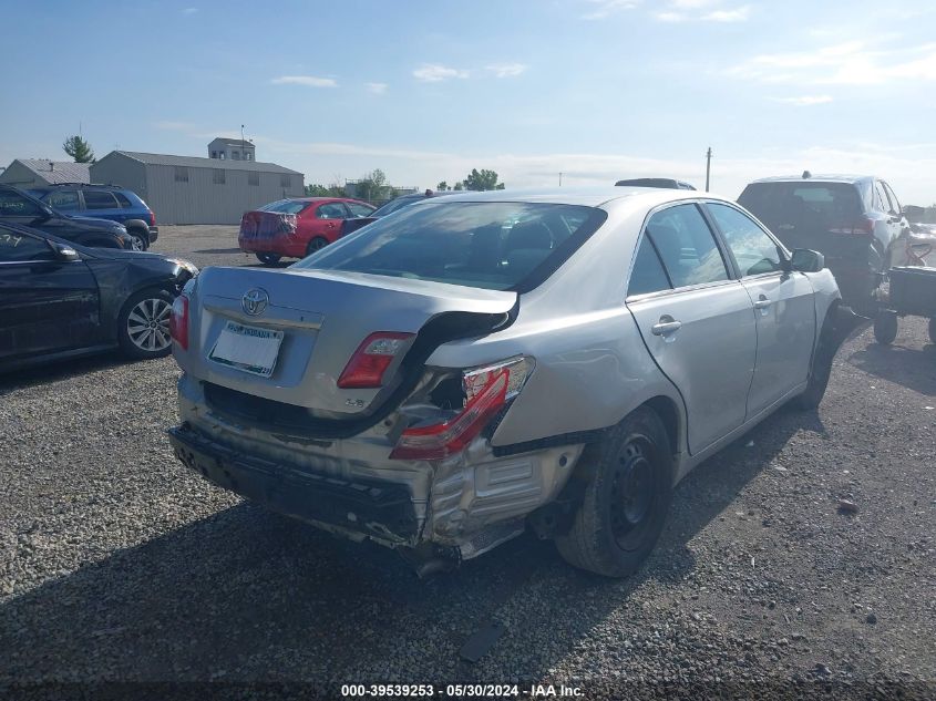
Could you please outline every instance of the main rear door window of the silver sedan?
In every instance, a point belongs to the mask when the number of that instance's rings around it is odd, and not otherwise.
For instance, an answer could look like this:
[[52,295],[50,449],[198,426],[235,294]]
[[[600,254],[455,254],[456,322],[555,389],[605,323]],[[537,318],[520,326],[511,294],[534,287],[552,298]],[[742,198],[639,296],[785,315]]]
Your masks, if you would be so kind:
[[659,252],[672,287],[729,279],[721,251],[696,205],[657,212],[647,223],[646,234]]

